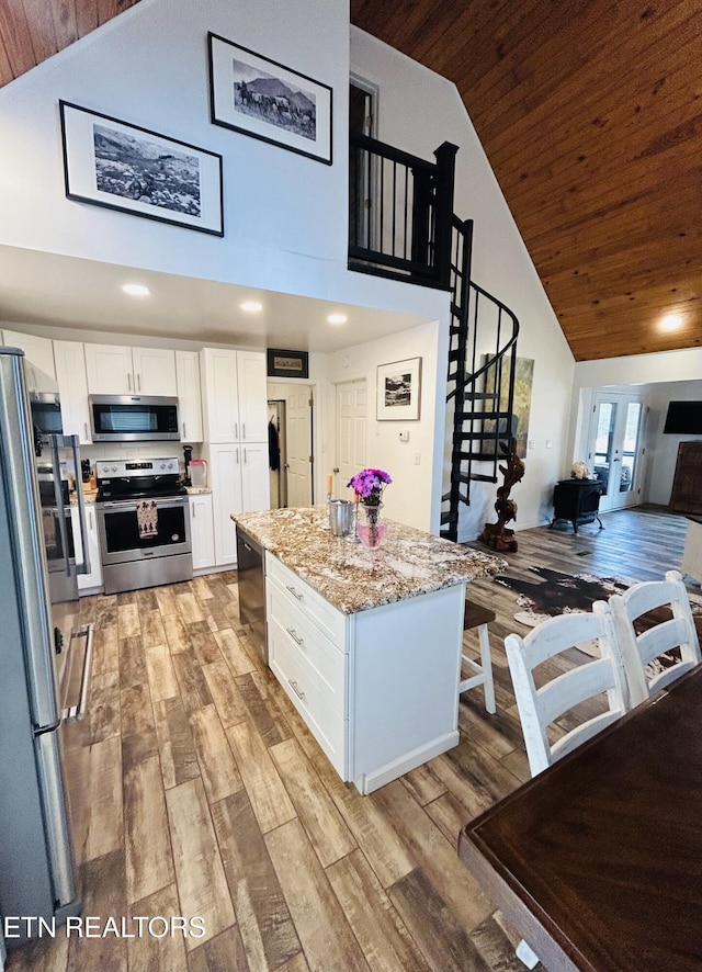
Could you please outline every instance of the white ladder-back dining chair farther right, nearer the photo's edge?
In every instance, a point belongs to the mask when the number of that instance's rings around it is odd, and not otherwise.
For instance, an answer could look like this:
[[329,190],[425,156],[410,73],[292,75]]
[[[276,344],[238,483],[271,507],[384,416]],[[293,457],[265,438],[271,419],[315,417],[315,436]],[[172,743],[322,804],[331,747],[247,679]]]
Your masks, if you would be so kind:
[[[597,602],[593,610],[599,610],[600,604]],[[702,662],[690,599],[678,570],[668,570],[665,580],[634,584],[624,594],[613,595],[609,607],[632,705],[644,702],[653,692]],[[637,633],[635,622],[647,612],[661,608],[669,609],[668,617]],[[652,620],[655,622],[656,619]],[[655,666],[657,658],[673,648],[679,649],[679,662]],[[666,658],[666,663],[669,662],[670,658]]]

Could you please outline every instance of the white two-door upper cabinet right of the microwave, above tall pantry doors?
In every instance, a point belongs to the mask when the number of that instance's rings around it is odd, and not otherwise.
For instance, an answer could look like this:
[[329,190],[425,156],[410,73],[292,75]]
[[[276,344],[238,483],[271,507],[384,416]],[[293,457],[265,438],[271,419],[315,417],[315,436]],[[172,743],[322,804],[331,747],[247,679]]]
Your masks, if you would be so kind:
[[268,441],[263,352],[204,348],[202,365],[207,441]]

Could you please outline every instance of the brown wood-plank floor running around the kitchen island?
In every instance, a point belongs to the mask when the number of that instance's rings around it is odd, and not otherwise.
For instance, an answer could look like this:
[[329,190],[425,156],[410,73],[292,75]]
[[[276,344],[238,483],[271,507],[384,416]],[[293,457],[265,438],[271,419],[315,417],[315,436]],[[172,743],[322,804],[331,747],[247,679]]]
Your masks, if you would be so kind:
[[[636,579],[679,567],[687,521],[653,508],[518,534],[532,565]],[[531,577],[533,579],[533,576]],[[529,778],[502,638],[514,596],[471,597],[490,625],[497,713],[464,693],[461,744],[370,796],[338,778],[239,624],[236,573],[84,598],[90,714],[67,734],[83,914],[199,916],[205,934],[60,930],[21,972],[523,970],[514,936],[458,861],[460,828]],[[478,656],[477,635],[465,636]],[[127,931],[137,926],[127,924]]]

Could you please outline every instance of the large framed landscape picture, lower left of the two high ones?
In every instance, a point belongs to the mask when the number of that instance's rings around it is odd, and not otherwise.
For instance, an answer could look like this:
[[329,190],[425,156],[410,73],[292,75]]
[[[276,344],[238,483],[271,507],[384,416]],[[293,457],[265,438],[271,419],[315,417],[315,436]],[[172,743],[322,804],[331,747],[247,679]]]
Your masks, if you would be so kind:
[[222,156],[59,101],[66,196],[224,236]]

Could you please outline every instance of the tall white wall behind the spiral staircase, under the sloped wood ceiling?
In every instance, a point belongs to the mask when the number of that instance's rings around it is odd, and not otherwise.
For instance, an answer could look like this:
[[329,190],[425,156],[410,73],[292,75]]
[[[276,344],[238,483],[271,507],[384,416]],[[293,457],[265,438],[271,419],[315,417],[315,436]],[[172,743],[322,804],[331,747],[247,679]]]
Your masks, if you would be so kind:
[[[521,325],[518,353],[535,361],[526,472],[512,494],[516,525],[547,522],[565,462],[575,363],[473,124],[454,84],[355,27],[351,70],[380,88],[383,142],[427,159],[443,142],[460,147],[455,212],[475,221],[473,278],[514,312]],[[496,486],[473,484],[471,495],[471,507],[462,510],[462,540],[495,520]]]

